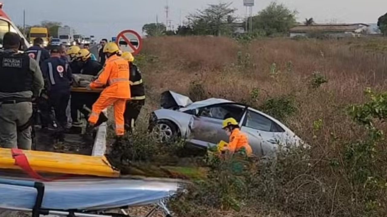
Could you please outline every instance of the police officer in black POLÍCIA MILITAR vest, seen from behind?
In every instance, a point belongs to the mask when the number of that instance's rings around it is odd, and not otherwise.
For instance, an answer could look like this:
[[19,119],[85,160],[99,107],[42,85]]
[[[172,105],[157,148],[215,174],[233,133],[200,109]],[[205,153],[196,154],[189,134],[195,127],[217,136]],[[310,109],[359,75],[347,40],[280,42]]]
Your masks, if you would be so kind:
[[32,99],[43,88],[39,64],[19,54],[21,38],[14,32],[3,37],[0,54],[0,146],[31,149]]

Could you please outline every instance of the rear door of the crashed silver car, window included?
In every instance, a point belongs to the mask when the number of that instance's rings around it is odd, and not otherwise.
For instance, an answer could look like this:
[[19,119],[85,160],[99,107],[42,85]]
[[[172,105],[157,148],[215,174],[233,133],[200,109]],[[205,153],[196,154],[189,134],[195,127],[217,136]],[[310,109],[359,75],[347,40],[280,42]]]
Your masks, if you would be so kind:
[[248,108],[241,131],[248,136],[253,153],[258,156],[271,156],[275,153],[284,130],[263,114]]

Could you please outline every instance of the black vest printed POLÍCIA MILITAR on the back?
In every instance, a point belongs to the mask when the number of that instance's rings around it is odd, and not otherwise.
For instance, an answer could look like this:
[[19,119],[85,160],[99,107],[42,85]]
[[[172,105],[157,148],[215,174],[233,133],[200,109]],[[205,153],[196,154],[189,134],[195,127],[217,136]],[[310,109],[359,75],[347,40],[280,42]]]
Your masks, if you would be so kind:
[[0,54],[0,92],[15,93],[31,91],[33,72],[26,54]]

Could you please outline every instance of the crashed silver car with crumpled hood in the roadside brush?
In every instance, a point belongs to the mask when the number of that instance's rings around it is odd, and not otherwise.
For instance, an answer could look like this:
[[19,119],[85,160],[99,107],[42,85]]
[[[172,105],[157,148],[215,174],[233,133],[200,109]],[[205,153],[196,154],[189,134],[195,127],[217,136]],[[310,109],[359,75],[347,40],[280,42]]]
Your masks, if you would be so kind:
[[248,105],[219,98],[192,102],[171,91],[162,93],[161,108],[152,113],[149,128],[160,142],[181,137],[189,144],[207,148],[221,140],[228,142],[222,129],[222,122],[228,117],[240,123],[241,131],[247,134],[253,153],[258,156],[274,154],[279,145],[302,143],[284,124]]

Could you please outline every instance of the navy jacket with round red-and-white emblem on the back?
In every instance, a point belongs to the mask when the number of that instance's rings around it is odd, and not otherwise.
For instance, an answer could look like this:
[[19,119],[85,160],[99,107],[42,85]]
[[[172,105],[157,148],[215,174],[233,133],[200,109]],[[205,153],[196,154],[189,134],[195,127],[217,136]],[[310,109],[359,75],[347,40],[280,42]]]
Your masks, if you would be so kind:
[[69,65],[59,57],[51,57],[42,63],[43,78],[48,92],[70,92],[72,73]]

